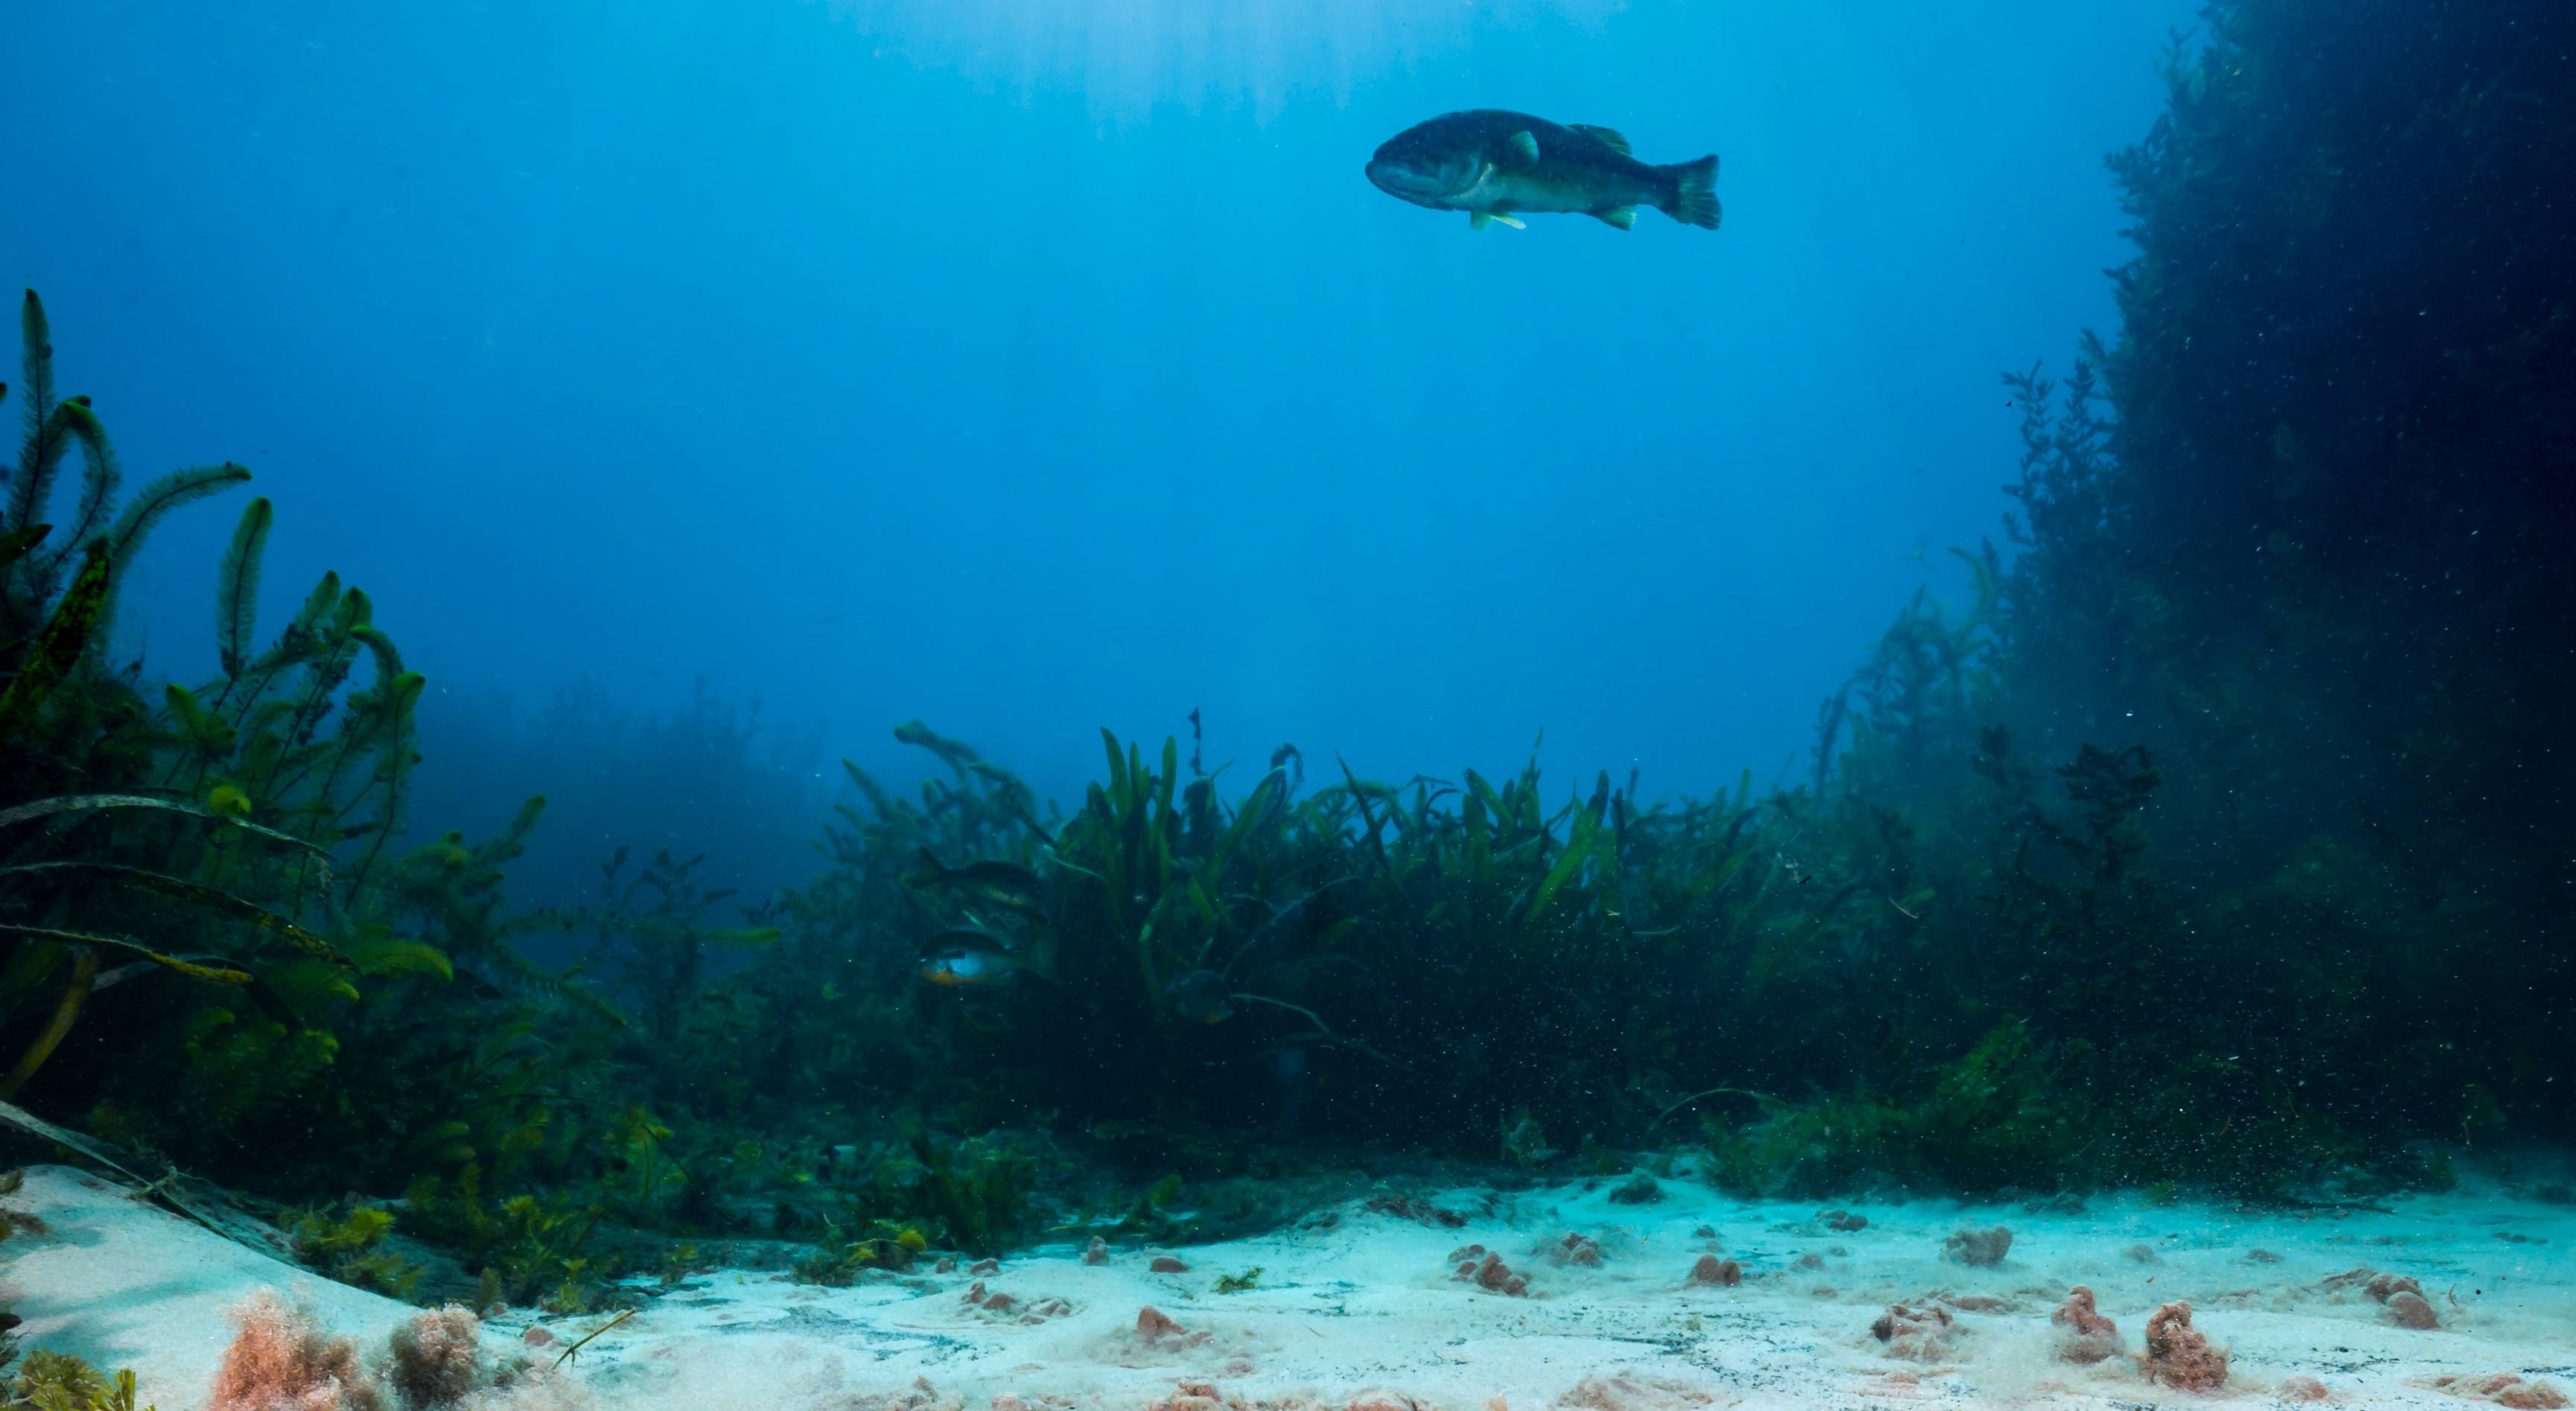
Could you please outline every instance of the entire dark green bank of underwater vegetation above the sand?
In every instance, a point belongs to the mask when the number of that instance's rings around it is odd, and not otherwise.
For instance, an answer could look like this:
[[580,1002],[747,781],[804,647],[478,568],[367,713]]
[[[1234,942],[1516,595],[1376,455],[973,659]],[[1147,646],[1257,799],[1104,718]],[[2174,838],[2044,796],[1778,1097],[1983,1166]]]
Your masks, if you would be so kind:
[[247,471],[124,494],[28,296],[0,1097],[299,1202],[350,1282],[559,1313],[726,1236],[814,1282],[1177,1241],[1213,1182],[1386,1154],[2311,1200],[2563,1138],[2571,28],[2241,0],[2177,39],[2112,157],[2120,335],[2007,376],[2012,551],[1896,613],[1795,778],[1211,767],[1193,711],[1056,803],[909,721],[938,778],[848,767],[760,899],[618,850],[518,911],[541,801],[412,837],[422,677],[337,577],[263,633],[265,500],[219,675],[116,664],[137,543]]

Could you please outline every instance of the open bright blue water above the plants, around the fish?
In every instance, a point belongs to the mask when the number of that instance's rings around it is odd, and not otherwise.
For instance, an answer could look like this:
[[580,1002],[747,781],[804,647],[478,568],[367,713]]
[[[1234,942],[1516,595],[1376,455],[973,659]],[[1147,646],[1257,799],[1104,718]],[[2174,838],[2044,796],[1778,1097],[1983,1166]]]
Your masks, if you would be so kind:
[[[922,716],[1066,798],[1095,726],[1193,706],[1211,767],[1546,729],[1708,790],[1963,592],[1996,371],[2112,322],[2102,152],[2187,18],[41,0],[0,268],[131,476],[258,471],[268,623],[325,566],[376,597],[433,739],[587,677],[891,778]],[[1718,152],[1726,227],[1473,234],[1360,178],[1466,106]],[[211,664],[232,515],[129,590],[157,675]]]

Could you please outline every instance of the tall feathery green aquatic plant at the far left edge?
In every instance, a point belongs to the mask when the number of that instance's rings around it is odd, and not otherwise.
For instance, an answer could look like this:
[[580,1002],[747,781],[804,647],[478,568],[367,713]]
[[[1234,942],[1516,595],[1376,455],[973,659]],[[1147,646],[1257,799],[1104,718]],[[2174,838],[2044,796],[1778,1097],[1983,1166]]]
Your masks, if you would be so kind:
[[[541,801],[484,845],[402,842],[422,677],[337,574],[263,639],[268,500],[245,507],[216,572],[216,675],[144,693],[137,667],[111,669],[103,639],[144,536],[247,471],[188,469],[121,497],[90,399],[54,394],[33,294],[21,332],[26,440],[0,510],[15,628],[0,633],[0,1043],[15,1053],[0,1097],[88,1105],[93,1130],[173,1154],[294,1102],[309,1141],[350,1143],[335,1179],[350,1161],[397,1182],[471,1161],[497,1069],[402,1058],[456,984],[492,996],[471,1002],[487,1017],[513,994],[564,991],[520,958],[497,896]],[[64,533],[46,515],[64,510],[75,445]],[[376,1061],[374,1094],[343,1087],[345,1045]]]

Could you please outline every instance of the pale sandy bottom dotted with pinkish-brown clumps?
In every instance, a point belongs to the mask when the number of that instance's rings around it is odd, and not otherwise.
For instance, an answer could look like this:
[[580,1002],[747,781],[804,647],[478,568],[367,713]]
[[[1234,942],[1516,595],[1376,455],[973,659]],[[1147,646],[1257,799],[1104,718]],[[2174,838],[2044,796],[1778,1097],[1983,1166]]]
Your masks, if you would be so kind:
[[[2136,1197],[1917,1200],[1844,1205],[1847,1218],[1829,1220],[1695,1182],[1662,1182],[1646,1205],[1613,1202],[1615,1187],[1401,1192],[1378,1202],[1391,1213],[1350,1202],[1262,1238],[1110,1249],[1097,1264],[1046,1246],[981,1275],[842,1290],[768,1272],[636,1285],[641,1313],[580,1354],[577,1401],[1394,1411],[1502,1398],[1607,1411],[2280,1403],[2318,1390],[2344,1406],[2460,1408],[2576,1396],[2576,1210],[2561,1205],[2463,1192],[2409,1197],[2396,1215],[2241,1215]],[[410,1316],[62,1166],[28,1172],[8,1210],[44,1223],[0,1244],[0,1303],[26,1318],[23,1344],[134,1367],[162,1411],[206,1401],[224,1313],[258,1287],[368,1347]],[[1945,1254],[1950,1233],[1996,1223],[2012,1231],[2002,1264]],[[1499,1254],[1525,1295],[1455,1277],[1458,1262],[1481,1262],[1463,1246]],[[1188,1269],[1157,1275],[1151,1254]],[[1692,1285],[1703,1254],[1734,1259],[1741,1285]],[[2401,1326],[2365,1280],[2339,1280],[2362,1267],[2416,1280],[2439,1326]],[[1255,1287],[1216,1293],[1221,1275],[1249,1269]],[[2117,1323],[2117,1352],[2092,1365],[2058,1357],[2066,1329],[2050,1311],[2071,1285],[2089,1285]],[[2221,1390],[2182,1393],[2141,1372],[2146,1318],[2169,1300],[2190,1300],[2195,1326],[2231,1352]],[[1870,1323],[1891,1303],[1940,1313],[1924,1313],[1929,1331],[1880,1341]],[[1180,1331],[1139,1331],[1144,1308]],[[484,1336],[495,1352],[526,1352],[531,1329],[559,1347],[600,1321],[513,1311]]]

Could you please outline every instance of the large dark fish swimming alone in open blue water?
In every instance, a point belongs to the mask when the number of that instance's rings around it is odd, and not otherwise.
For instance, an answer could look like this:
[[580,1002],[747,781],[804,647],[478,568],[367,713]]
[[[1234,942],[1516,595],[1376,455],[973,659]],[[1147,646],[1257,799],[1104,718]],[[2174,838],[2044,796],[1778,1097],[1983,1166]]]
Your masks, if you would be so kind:
[[1391,136],[1368,160],[1378,191],[1466,211],[1484,229],[1520,229],[1512,211],[1558,211],[1636,227],[1636,209],[1654,206],[1700,229],[1718,229],[1718,160],[1656,167],[1628,154],[1628,139],[1605,126],[1551,124],[1502,108],[1443,113]]

